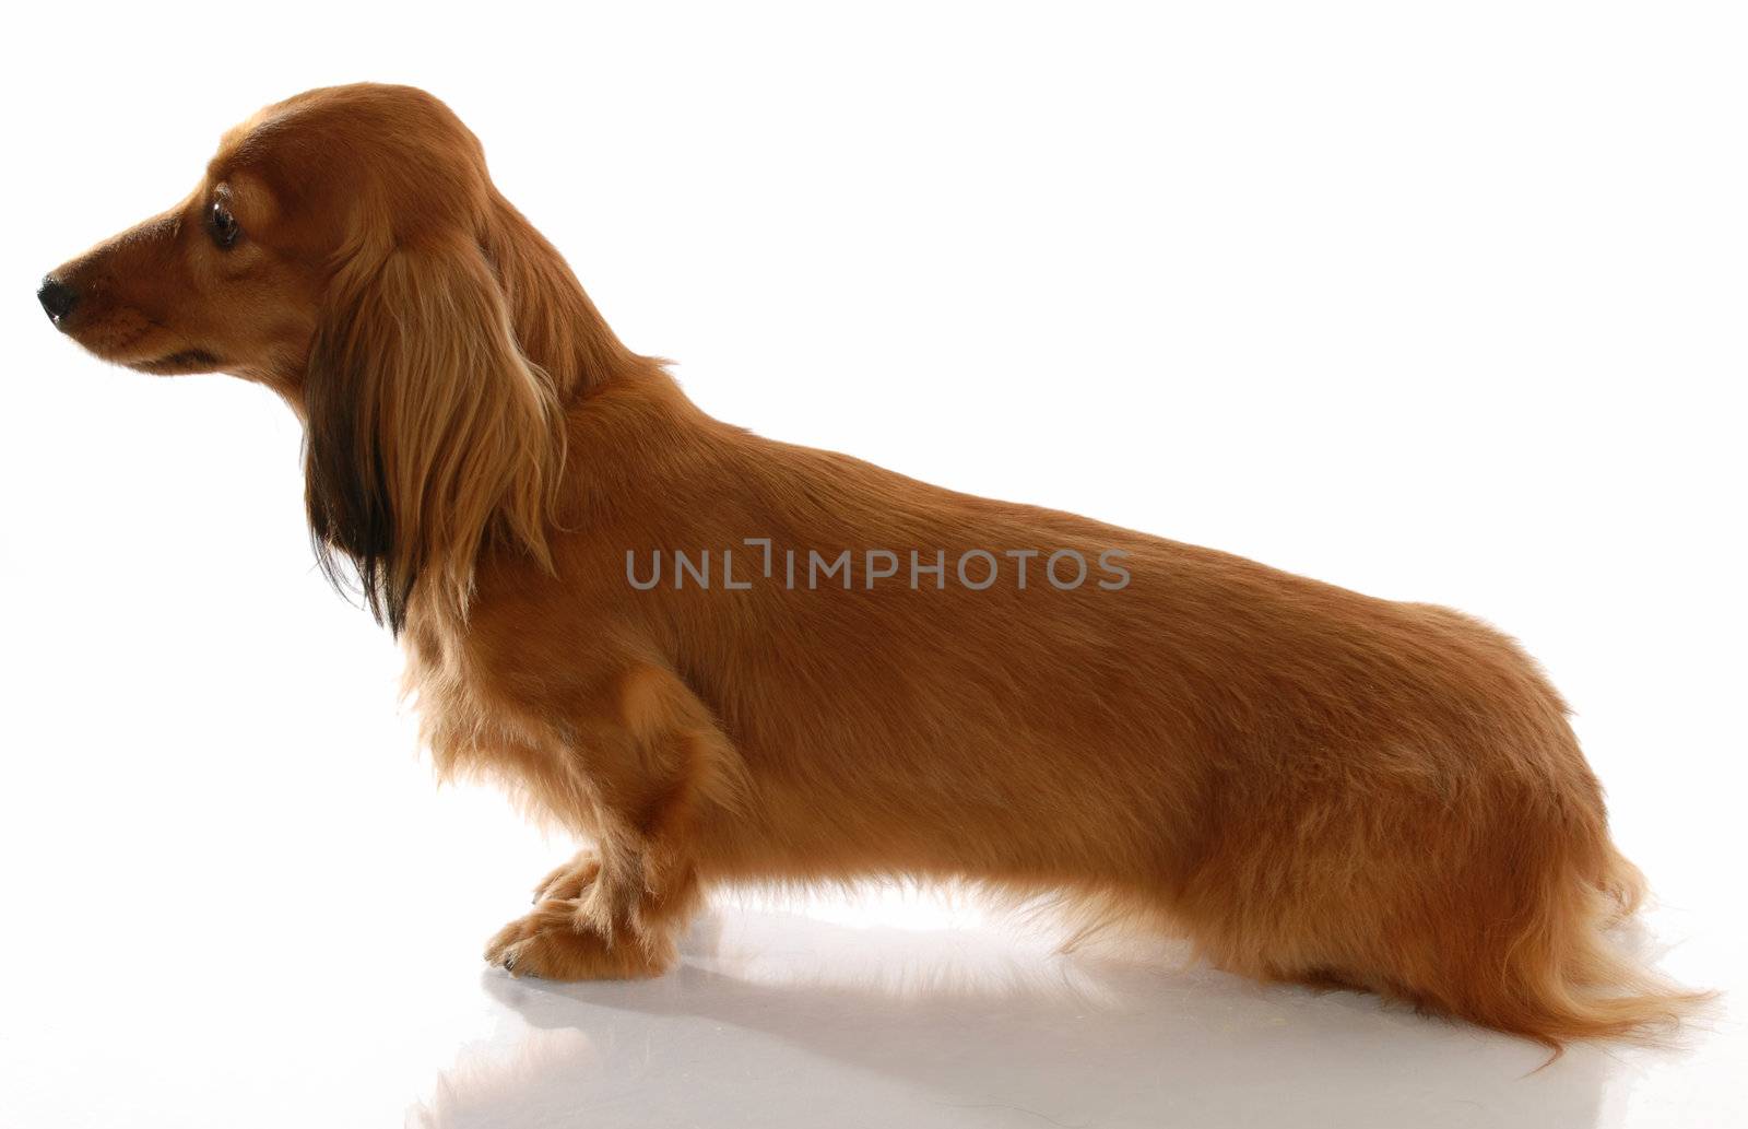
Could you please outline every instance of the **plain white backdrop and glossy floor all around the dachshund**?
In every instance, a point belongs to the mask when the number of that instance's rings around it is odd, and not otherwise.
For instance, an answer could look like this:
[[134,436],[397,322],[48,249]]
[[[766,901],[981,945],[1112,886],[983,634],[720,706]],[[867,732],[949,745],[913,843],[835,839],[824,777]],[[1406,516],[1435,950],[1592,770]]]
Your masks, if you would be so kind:
[[[299,433],[37,278],[311,86],[425,86],[710,412],[1517,634],[1662,963],[1741,954],[1748,37],[1731,3],[19,5],[0,1126],[1717,1126],[1524,1043],[930,897],[731,900],[656,984],[481,942],[570,844],[437,792]],[[1047,1120],[1040,1120],[1047,1119]]]

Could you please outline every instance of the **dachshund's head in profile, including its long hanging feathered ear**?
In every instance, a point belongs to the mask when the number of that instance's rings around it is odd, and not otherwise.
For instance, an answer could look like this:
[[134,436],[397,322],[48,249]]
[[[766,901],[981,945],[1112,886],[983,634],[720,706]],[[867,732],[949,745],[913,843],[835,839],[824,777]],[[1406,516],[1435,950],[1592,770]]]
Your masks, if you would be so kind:
[[465,605],[484,540],[544,556],[558,402],[628,357],[477,138],[397,86],[267,107],[187,199],[51,271],[38,299],[105,360],[283,395],[323,563],[351,558],[395,627],[420,575]]

